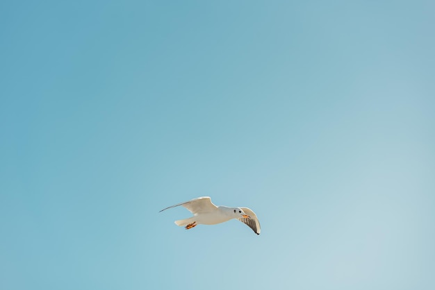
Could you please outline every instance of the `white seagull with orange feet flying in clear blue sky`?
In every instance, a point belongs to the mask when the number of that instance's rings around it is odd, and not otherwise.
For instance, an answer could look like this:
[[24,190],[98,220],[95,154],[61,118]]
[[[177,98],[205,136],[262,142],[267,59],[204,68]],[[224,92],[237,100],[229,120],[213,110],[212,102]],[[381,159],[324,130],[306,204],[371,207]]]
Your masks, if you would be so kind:
[[[238,219],[242,223],[245,223],[249,228],[252,228],[256,234],[260,234],[260,222],[258,221],[256,214],[247,207],[216,206],[211,202],[209,196],[202,196],[199,198],[193,198],[191,201],[171,205],[163,210],[178,207],[180,205],[186,207],[186,209],[193,214],[193,216],[188,219],[175,221],[176,225],[179,225],[180,227],[184,226],[186,230],[195,228],[195,226],[199,224],[215,225],[217,223],[224,223],[230,219]],[[160,212],[163,212],[163,210]]]

